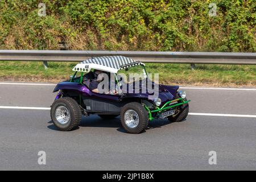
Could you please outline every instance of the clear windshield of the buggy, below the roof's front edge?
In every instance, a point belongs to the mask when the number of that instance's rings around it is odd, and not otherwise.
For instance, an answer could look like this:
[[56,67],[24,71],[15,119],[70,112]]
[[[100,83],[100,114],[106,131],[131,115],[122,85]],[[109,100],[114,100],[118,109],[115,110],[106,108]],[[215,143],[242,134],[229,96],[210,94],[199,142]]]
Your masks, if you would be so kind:
[[147,78],[146,70],[143,65],[136,65],[126,69],[121,69],[117,73],[118,80],[121,78],[123,83],[129,84],[130,82],[144,80]]

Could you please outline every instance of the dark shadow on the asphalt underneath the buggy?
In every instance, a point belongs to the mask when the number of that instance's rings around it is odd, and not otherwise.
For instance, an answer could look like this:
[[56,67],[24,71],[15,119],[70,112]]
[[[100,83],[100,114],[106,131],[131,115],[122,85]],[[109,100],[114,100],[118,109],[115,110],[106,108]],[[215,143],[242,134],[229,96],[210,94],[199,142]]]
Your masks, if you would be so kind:
[[[183,122],[185,122],[185,120]],[[58,130],[53,125],[52,121],[49,121],[48,123],[52,124],[52,125],[47,126],[48,129]],[[155,119],[154,121],[150,121],[148,123],[148,127],[147,127],[146,131],[160,128],[165,125],[170,125],[172,123],[173,122],[170,122],[167,119]],[[126,130],[123,129],[119,117],[114,118],[114,119],[102,119],[100,117],[88,117],[88,118],[83,117],[79,127],[109,127],[109,128],[113,127],[113,128],[117,128],[117,131],[119,131],[121,133],[127,133]],[[79,127],[77,129],[79,129]],[[77,130],[77,129],[75,129],[75,130]],[[143,133],[146,131],[143,131]]]

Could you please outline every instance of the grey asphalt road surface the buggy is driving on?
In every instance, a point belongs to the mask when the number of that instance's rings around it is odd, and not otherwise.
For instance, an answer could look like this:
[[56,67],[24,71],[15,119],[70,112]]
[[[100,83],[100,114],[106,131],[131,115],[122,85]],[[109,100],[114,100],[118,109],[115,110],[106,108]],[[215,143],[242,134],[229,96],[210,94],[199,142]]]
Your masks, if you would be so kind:
[[[52,85],[1,85],[0,106],[49,107]],[[256,90],[184,89],[191,113],[256,115]],[[0,169],[255,170],[256,118],[189,115],[180,123],[150,122],[127,134],[119,118],[82,119],[75,131],[57,131],[49,110],[0,109]],[[46,152],[46,165],[38,152]],[[209,151],[217,164],[209,165]]]

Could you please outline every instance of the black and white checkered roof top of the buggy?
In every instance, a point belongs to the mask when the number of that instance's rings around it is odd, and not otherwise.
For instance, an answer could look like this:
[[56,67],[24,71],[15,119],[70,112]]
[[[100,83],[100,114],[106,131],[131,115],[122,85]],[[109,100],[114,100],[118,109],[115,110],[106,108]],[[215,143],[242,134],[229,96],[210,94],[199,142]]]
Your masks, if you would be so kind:
[[88,60],[82,61],[83,64],[99,64],[106,67],[115,69],[124,69],[132,67],[134,65],[143,64],[140,61],[135,61],[129,57],[124,56],[103,56],[103,57],[92,57]]

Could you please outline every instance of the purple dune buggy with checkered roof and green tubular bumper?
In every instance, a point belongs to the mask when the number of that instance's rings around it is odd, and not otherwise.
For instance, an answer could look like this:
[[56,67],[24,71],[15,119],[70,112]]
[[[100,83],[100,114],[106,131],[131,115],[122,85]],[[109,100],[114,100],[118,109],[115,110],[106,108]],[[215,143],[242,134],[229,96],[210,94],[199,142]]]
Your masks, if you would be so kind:
[[[126,86],[129,92],[96,93],[85,84],[97,77],[95,71],[113,74],[114,84],[121,88]],[[80,125],[82,115],[97,114],[103,119],[113,119],[120,115],[123,128],[128,133],[141,133],[148,126],[148,121],[155,118],[167,118],[172,122],[183,121],[188,115],[188,102],[184,91],[177,91],[179,86],[160,85],[154,82],[152,88],[158,87],[158,97],[150,97],[152,93],[146,89],[141,91],[146,83],[151,81],[140,61],[123,56],[92,57],[77,64],[70,80],[60,82],[53,92],[59,91],[51,106],[51,118],[54,125],[61,131],[69,131]],[[143,78],[123,82],[118,78],[118,72],[143,74]],[[80,73],[77,76],[77,73]],[[127,85],[125,85],[127,84]],[[137,85],[138,88],[135,88]],[[112,93],[112,94],[111,94]]]

